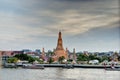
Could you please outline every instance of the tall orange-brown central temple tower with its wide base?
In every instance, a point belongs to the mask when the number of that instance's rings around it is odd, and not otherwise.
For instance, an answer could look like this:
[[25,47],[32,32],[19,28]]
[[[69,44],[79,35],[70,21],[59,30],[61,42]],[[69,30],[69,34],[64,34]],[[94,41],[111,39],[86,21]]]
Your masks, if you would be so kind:
[[62,56],[64,56],[65,59],[68,58],[68,54],[63,48],[62,33],[61,32],[59,32],[59,34],[58,34],[58,42],[57,42],[57,47],[54,50],[54,54],[56,56],[56,60],[58,60],[58,58],[62,57]]

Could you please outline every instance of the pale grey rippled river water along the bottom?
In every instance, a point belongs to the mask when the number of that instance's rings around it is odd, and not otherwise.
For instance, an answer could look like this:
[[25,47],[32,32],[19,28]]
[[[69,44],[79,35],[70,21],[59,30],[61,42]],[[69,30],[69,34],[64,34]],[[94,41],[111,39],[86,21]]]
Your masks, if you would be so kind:
[[120,80],[120,71],[104,69],[0,69],[0,80]]

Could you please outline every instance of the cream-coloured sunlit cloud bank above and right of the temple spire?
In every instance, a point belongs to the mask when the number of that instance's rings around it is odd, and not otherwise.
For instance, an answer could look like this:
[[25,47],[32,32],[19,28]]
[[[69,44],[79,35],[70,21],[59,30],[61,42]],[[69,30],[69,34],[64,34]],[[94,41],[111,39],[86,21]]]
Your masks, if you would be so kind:
[[[65,11],[63,14],[55,15],[54,12],[48,12],[49,15],[58,18],[59,21],[46,27],[51,30],[62,29],[66,35],[76,35],[97,27],[108,27],[118,22],[118,16],[114,15],[91,15],[83,14],[75,10]],[[44,14],[49,16],[48,14]]]

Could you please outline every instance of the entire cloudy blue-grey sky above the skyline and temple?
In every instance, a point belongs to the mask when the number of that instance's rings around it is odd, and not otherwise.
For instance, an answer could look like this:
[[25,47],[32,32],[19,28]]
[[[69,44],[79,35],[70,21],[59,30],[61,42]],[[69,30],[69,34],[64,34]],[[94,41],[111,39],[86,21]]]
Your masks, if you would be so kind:
[[0,0],[0,50],[119,51],[119,0]]

